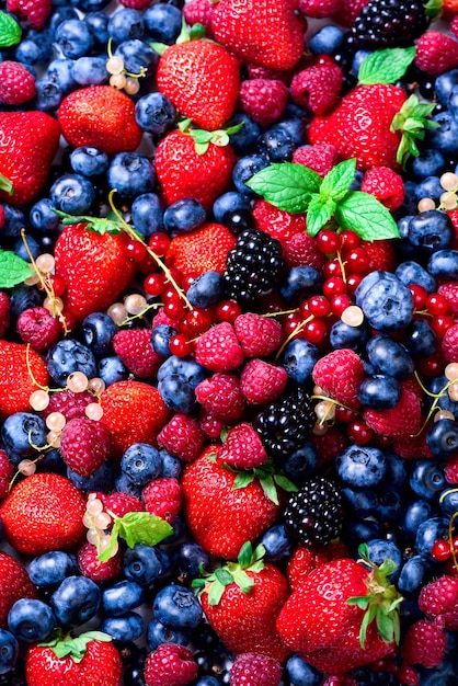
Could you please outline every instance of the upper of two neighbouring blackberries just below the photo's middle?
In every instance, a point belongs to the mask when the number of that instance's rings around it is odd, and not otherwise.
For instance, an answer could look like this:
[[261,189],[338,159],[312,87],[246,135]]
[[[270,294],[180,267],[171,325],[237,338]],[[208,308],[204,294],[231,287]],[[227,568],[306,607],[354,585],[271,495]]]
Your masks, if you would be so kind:
[[304,445],[316,421],[310,397],[296,387],[267,405],[254,426],[267,454],[280,461]]

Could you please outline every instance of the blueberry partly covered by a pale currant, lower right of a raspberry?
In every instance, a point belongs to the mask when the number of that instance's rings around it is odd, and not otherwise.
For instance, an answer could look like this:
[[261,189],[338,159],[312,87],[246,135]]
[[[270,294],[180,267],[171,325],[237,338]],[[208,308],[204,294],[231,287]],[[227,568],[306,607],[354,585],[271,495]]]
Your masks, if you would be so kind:
[[89,347],[75,339],[65,339],[47,353],[46,366],[58,386],[64,388],[73,371],[82,371],[88,379],[96,376],[94,356]]

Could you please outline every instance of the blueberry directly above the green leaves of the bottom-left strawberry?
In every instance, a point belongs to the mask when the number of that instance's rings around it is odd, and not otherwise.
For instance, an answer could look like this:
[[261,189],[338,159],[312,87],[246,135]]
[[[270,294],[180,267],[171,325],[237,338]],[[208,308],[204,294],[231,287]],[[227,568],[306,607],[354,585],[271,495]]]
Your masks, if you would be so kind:
[[87,576],[67,576],[50,596],[50,606],[62,627],[78,627],[99,610],[101,592]]

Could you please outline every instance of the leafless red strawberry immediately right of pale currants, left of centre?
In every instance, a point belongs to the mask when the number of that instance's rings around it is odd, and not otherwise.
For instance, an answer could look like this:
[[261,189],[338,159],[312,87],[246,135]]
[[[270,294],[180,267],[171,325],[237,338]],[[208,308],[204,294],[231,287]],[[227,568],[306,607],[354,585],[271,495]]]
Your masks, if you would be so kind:
[[103,422],[112,432],[115,457],[133,443],[156,444],[158,433],[171,416],[159,391],[144,381],[116,381],[101,396]]

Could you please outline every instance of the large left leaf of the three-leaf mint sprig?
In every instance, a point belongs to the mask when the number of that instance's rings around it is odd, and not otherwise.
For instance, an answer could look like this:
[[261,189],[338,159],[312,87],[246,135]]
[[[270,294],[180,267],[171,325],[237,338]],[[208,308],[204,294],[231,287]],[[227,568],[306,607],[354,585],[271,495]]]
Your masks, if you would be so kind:
[[251,176],[247,185],[278,209],[297,215],[306,211],[322,179],[311,169],[294,162],[274,162]]

